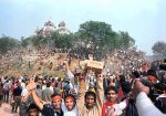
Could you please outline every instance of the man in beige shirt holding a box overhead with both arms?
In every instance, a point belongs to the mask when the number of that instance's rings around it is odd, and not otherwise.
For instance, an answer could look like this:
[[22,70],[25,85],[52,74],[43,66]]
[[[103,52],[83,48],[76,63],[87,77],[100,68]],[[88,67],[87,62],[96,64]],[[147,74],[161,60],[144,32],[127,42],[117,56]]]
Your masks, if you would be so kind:
[[79,116],[101,116],[104,98],[103,74],[96,73],[96,93],[85,92],[85,81],[80,77],[80,88],[77,96]]

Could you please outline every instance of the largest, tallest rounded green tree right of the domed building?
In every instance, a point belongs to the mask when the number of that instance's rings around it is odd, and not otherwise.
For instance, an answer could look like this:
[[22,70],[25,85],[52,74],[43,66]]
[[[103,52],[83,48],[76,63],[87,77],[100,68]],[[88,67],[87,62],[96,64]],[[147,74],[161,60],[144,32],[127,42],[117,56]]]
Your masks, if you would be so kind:
[[[91,43],[94,59],[101,59],[103,48],[110,45],[110,40],[113,40],[112,28],[110,24],[100,21],[87,21],[82,23],[79,29],[80,38],[85,45]],[[98,57],[98,56],[100,57]]]

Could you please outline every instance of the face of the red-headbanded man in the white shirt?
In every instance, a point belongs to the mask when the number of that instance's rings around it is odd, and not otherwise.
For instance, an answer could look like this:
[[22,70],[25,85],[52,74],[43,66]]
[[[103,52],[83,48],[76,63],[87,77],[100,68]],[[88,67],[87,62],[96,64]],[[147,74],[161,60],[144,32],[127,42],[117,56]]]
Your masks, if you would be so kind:
[[75,106],[73,98],[66,98],[64,104],[65,104],[65,107],[68,108],[68,110],[72,110]]

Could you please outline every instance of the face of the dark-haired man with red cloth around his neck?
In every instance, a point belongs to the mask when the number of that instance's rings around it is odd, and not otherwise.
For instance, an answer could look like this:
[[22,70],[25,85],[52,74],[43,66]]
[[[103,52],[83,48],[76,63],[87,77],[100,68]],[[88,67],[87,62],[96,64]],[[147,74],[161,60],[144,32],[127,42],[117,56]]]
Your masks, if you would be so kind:
[[117,94],[115,91],[111,89],[106,93],[106,99],[107,102],[115,102],[117,99]]

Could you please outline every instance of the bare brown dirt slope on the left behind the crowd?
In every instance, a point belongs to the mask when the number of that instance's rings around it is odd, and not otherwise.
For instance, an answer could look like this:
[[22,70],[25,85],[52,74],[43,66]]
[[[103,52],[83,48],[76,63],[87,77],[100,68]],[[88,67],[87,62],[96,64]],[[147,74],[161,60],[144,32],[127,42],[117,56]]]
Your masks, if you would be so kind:
[[[66,59],[66,53],[60,53],[49,56],[23,55],[22,59],[10,59],[1,61],[0,74],[17,75],[20,74],[42,74],[63,77],[64,70],[59,68]],[[79,65],[79,60],[72,59],[70,68],[73,72]]]

